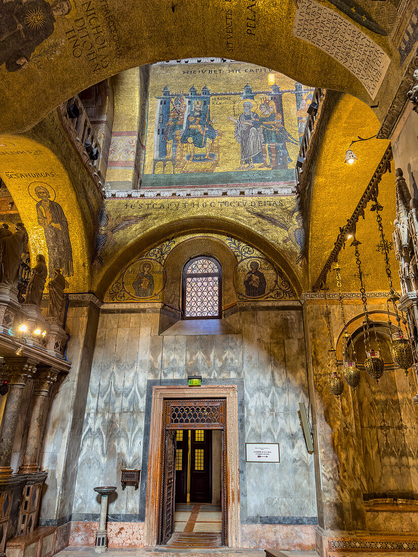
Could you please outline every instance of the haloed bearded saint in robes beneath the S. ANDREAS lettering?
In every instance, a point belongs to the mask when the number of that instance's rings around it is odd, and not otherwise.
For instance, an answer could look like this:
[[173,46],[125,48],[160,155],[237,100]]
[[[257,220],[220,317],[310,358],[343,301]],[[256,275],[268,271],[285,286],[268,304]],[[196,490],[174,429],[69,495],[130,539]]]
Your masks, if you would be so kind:
[[54,276],[54,269],[60,269],[64,277],[73,276],[68,221],[61,205],[55,201],[54,188],[46,182],[32,182],[28,192],[37,201],[38,224],[43,228],[48,249],[49,276]]

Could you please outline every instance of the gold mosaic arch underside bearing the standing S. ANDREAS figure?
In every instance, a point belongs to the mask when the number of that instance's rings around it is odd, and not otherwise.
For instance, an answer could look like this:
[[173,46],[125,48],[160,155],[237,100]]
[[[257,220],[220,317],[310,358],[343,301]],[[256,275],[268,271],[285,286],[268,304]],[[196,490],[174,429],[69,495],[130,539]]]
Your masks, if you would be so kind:
[[42,253],[51,278],[52,268],[60,267],[70,284],[69,291],[89,290],[88,231],[60,160],[36,141],[3,135],[0,177],[28,231],[31,261]]

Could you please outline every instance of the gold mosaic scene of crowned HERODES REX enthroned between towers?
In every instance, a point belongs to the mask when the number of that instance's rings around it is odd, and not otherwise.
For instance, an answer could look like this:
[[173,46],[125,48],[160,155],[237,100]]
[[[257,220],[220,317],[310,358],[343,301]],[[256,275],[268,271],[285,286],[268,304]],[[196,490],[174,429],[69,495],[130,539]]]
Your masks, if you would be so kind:
[[[153,65],[143,186],[154,185],[150,174],[160,174],[158,185],[172,181],[172,174],[179,174],[176,185],[223,183],[213,173],[227,173],[225,183],[293,182],[289,169],[295,168],[312,92],[240,62]],[[246,105],[250,125],[241,124]]]

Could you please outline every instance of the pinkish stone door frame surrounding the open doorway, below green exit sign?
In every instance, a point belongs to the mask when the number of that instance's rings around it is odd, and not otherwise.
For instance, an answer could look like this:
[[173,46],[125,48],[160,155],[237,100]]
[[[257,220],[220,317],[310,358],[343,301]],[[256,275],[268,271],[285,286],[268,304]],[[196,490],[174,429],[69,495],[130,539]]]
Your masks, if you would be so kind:
[[[157,386],[153,388],[151,409],[151,426],[149,435],[147,502],[145,505],[144,545],[154,546],[158,543],[158,532],[162,531],[161,521],[163,477],[162,465],[166,431],[166,401],[193,399],[193,402],[203,399],[224,399],[225,427],[223,427],[223,442],[225,458],[223,473],[225,478],[225,504],[223,505],[222,522],[227,545],[231,548],[241,546],[240,520],[240,485],[239,485],[239,443],[238,443],[238,391],[236,385],[208,385],[204,387]],[[206,402],[206,401],[205,401]],[[216,429],[221,429],[219,424]],[[193,427],[188,423],[187,428]],[[201,426],[199,426],[201,427]],[[178,427],[173,424],[172,429]],[[178,428],[181,429],[181,428]],[[215,429],[215,427],[214,427]]]

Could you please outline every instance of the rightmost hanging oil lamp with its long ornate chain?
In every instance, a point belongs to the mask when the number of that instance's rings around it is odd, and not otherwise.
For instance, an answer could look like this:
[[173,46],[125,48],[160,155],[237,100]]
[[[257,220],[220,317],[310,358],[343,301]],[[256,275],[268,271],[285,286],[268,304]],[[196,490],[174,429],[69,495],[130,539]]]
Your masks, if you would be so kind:
[[[383,210],[381,204],[375,198],[375,203],[372,205],[371,211],[376,211],[376,221],[379,228],[381,245],[383,256],[385,257],[385,271],[387,280],[390,287],[390,296],[386,300],[387,308],[387,325],[389,330],[392,330],[392,321],[390,318],[389,305],[392,304],[393,311],[396,315],[397,330],[395,333],[391,333],[391,356],[393,361],[405,371],[405,375],[408,374],[408,369],[414,364],[414,355],[412,354],[412,346],[409,339],[404,338],[404,333],[401,329],[401,318],[399,316],[397,302],[399,301],[399,296],[393,289],[392,271],[389,262],[389,247],[387,245],[387,240],[385,238],[385,232],[383,232],[382,217],[380,212]],[[407,330],[407,328],[406,328]]]

